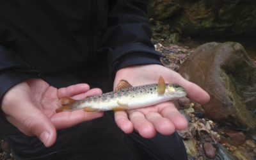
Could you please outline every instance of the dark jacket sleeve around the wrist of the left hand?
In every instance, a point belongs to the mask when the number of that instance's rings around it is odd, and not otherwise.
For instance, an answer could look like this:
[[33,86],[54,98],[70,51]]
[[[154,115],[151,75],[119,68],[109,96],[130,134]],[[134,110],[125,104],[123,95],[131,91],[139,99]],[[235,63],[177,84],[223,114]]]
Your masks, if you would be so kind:
[[[27,63],[12,51],[13,38],[9,31],[0,28],[0,104],[4,93],[12,86],[26,79],[37,77],[38,72],[31,69]],[[0,135],[15,134],[19,132],[12,124],[8,123],[4,117],[3,110],[0,108]]]

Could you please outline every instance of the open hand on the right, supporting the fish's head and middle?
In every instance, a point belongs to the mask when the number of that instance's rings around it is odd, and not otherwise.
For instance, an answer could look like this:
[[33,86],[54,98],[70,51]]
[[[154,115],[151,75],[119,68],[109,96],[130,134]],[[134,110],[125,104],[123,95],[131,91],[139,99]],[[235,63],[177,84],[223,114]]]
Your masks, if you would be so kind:
[[[166,83],[176,83],[184,87],[188,97],[204,104],[210,97],[202,88],[180,76],[179,73],[161,65],[140,65],[126,67],[116,72],[114,88],[122,79],[132,86],[157,83],[162,76]],[[185,129],[188,125],[186,118],[180,115],[173,102],[163,102],[147,108],[115,111],[115,121],[125,133],[134,129],[144,138],[152,138],[159,132],[163,135],[172,134],[176,129]]]

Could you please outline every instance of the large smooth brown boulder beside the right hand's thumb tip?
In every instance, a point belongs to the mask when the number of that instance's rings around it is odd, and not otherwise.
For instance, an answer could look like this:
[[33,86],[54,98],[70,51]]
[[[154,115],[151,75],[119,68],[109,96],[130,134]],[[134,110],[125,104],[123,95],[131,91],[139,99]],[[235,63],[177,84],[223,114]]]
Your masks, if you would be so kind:
[[180,74],[211,95],[205,116],[232,127],[256,129],[256,67],[241,44],[211,42],[198,47]]

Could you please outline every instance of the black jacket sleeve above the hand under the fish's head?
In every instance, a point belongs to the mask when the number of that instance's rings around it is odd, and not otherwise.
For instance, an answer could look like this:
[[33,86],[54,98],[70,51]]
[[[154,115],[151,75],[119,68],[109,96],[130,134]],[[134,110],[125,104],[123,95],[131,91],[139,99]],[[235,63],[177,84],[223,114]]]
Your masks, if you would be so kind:
[[111,75],[131,65],[161,64],[161,54],[150,41],[146,1],[117,0],[110,3],[108,29],[102,44],[108,48]]

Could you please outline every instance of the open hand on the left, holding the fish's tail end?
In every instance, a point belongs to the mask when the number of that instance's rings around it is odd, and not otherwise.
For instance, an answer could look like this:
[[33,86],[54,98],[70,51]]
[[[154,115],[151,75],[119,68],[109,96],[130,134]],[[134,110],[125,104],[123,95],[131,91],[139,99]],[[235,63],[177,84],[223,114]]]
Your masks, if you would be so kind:
[[13,86],[3,97],[2,109],[6,119],[27,136],[37,136],[46,147],[56,141],[56,129],[64,129],[103,115],[83,110],[56,113],[62,97],[83,99],[102,93],[88,84],[54,88],[42,79],[29,79]]

